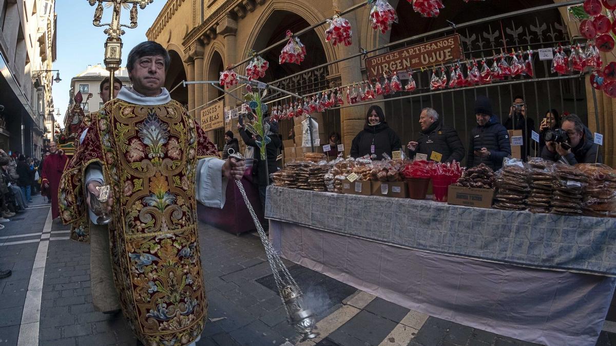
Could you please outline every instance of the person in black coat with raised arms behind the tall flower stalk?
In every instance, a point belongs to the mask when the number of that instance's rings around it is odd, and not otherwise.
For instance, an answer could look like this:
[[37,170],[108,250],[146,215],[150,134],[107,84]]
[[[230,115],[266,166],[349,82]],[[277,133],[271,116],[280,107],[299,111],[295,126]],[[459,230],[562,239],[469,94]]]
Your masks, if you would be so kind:
[[[269,123],[269,122],[268,122]],[[254,148],[254,163],[253,163],[253,175],[257,178],[257,183],[259,184],[259,196],[261,197],[261,203],[265,209],[265,190],[267,190],[267,185],[270,184],[271,179],[269,179],[269,175],[278,171],[278,164],[276,163],[276,159],[278,158],[278,153],[280,152],[280,147],[282,146],[282,141],[280,137],[278,137],[278,123],[269,123],[270,131],[266,134],[270,138],[270,142],[265,145],[265,153],[267,154],[267,164],[266,161],[261,159],[261,148],[257,145],[257,138],[255,135],[248,135],[243,126],[239,123],[237,124],[237,129],[240,131],[241,139],[248,145],[249,147]]]

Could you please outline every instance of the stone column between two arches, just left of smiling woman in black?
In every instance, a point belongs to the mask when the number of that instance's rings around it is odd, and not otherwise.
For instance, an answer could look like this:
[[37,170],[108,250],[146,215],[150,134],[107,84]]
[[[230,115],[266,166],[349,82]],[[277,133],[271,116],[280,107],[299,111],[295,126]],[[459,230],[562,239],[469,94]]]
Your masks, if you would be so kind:
[[[348,9],[355,4],[354,0],[338,0],[338,7]],[[363,28],[357,26],[357,17],[355,12],[344,15],[351,28],[353,28],[353,44],[351,46],[339,45],[339,57],[347,57],[349,55],[357,54],[360,47],[359,38],[362,37]],[[362,80],[362,62],[359,57],[345,60],[339,63],[339,71],[342,79],[342,85],[351,84],[352,82],[358,82]],[[341,121],[341,135],[342,143],[344,144],[345,154],[351,153],[351,142],[360,131],[363,129],[363,125],[366,122],[364,107],[349,107],[342,108],[340,110]]]

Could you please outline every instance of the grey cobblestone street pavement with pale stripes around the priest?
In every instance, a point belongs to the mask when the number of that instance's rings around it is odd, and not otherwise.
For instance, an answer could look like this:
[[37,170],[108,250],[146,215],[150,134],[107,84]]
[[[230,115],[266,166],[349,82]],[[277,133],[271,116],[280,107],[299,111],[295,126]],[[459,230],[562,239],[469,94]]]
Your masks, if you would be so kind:
[[[0,345],[16,345],[34,258],[49,207],[40,196],[0,231]],[[139,345],[121,314],[95,312],[90,291],[89,246],[66,239],[52,223],[39,323],[39,345]],[[9,238],[10,237],[10,238]],[[208,323],[198,345],[290,345],[298,338],[285,310],[261,242],[200,224],[201,260],[209,299]],[[411,312],[299,265],[290,266],[325,334],[317,345],[534,345]],[[304,342],[301,345],[315,345]],[[602,332],[599,346],[616,346]]]

